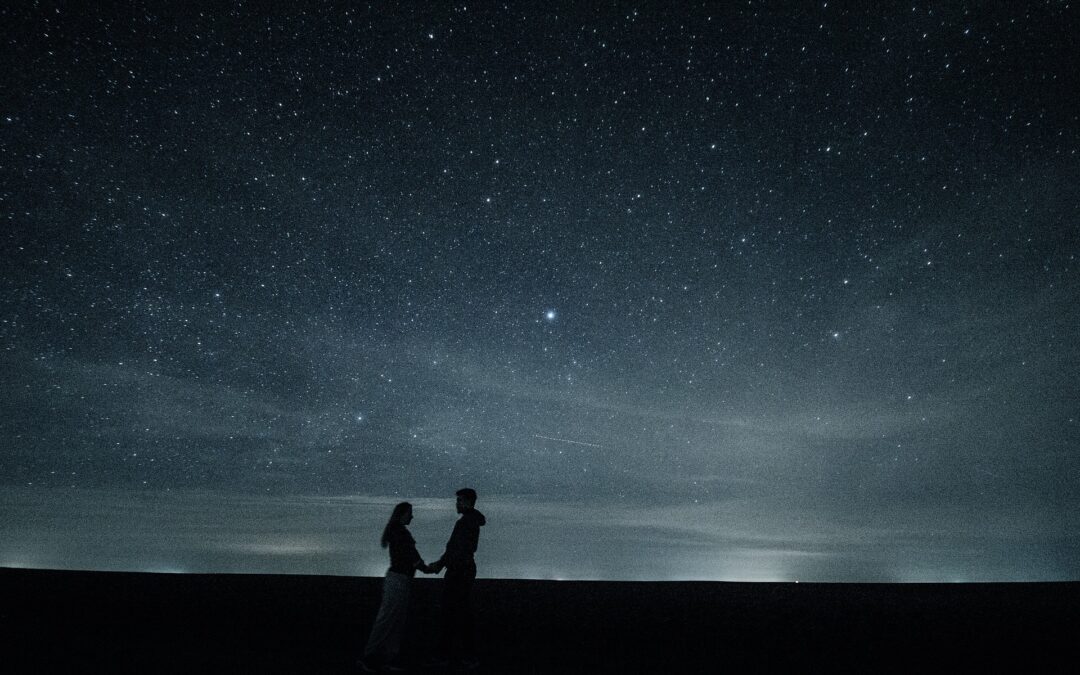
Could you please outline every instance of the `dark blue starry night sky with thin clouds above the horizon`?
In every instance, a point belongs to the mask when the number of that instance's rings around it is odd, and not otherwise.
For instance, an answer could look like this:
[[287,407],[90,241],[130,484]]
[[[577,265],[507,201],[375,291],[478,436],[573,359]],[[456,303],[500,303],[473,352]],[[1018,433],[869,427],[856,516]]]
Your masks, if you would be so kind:
[[0,9],[0,565],[1080,577],[1075,2],[118,5]]

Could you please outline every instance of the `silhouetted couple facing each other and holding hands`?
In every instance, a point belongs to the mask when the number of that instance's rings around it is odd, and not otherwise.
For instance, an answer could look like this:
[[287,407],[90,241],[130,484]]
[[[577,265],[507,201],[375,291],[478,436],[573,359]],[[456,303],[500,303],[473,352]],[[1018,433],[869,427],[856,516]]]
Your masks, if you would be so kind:
[[[478,665],[473,637],[473,617],[470,592],[476,579],[473,554],[480,542],[480,528],[486,519],[476,510],[476,490],[465,487],[457,491],[457,510],[461,514],[454,525],[446,551],[434,563],[427,565],[416,550],[416,540],[408,531],[413,522],[413,505],[407,501],[394,507],[390,521],[382,530],[382,548],[390,549],[390,569],[382,582],[382,603],[367,638],[364,657],[359,665],[362,672],[376,672],[378,666],[390,671],[404,670],[397,661],[405,616],[408,609],[408,591],[416,570],[437,575],[446,569],[443,582],[443,625],[438,648],[429,665],[449,665],[457,657],[465,669]],[[455,653],[455,647],[459,647]]]

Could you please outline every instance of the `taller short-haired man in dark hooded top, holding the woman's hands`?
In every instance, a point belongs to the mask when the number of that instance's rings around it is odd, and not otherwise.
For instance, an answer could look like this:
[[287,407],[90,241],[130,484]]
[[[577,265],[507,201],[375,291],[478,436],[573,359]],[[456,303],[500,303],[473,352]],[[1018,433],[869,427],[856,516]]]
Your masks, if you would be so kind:
[[473,553],[480,542],[480,528],[487,522],[476,510],[476,490],[464,487],[457,491],[457,509],[461,517],[454,525],[450,540],[446,542],[443,557],[429,568],[438,573],[446,568],[443,582],[443,632],[438,636],[438,650],[434,661],[448,664],[454,656],[455,643],[460,639],[460,659],[467,669],[478,665],[473,642],[473,617],[470,591],[476,579]]

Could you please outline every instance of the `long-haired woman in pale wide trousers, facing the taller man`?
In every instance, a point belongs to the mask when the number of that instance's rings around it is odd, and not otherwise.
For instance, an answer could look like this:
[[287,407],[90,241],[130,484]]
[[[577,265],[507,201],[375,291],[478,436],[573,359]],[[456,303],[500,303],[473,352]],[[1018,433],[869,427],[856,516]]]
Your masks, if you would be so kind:
[[406,527],[411,522],[413,504],[403,501],[394,507],[390,521],[382,530],[382,548],[390,548],[390,569],[382,582],[379,613],[367,638],[364,657],[359,662],[360,670],[365,673],[375,673],[376,667],[381,665],[397,670],[395,666],[399,665],[397,652],[405,632],[409,582],[416,576],[416,570],[429,571]]

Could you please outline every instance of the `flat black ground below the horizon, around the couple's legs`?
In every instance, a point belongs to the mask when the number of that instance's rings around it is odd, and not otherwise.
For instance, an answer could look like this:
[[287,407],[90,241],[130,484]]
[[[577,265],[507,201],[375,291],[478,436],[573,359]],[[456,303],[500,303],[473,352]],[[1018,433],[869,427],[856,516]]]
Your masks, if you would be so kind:
[[[417,663],[440,583],[414,585]],[[0,569],[0,671],[350,673],[380,585]],[[1080,634],[1080,583],[480,580],[474,598],[482,673],[1072,672]]]

